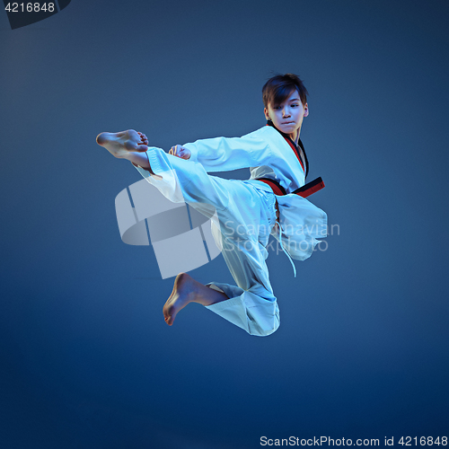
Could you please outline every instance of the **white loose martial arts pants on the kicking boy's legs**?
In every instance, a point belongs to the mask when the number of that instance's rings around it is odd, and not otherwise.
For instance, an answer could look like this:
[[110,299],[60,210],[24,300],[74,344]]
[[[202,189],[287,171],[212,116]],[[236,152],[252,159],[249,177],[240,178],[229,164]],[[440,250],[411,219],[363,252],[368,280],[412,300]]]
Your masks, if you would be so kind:
[[200,163],[166,154],[160,148],[150,148],[147,155],[157,178],[136,168],[166,198],[185,201],[206,216],[216,209],[220,232],[213,227],[213,234],[216,241],[221,240],[223,257],[237,286],[207,284],[229,297],[207,309],[251,335],[273,333],[279,327],[279,308],[265,260],[269,234],[276,223],[274,193],[258,189],[250,181],[210,176]]

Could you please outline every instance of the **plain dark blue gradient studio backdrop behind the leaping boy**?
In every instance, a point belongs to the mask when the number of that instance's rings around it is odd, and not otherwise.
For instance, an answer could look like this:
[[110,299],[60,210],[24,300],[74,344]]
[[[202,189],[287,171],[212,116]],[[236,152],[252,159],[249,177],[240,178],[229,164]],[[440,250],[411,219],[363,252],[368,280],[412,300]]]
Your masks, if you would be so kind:
[[[0,445],[260,447],[260,436],[449,433],[445,1],[88,2],[11,31],[0,13]],[[193,304],[172,328],[151,247],[120,241],[140,180],[95,144],[265,124],[294,72],[327,251],[271,253],[281,327]],[[246,176],[238,172],[235,176]],[[232,281],[220,256],[193,272]]]

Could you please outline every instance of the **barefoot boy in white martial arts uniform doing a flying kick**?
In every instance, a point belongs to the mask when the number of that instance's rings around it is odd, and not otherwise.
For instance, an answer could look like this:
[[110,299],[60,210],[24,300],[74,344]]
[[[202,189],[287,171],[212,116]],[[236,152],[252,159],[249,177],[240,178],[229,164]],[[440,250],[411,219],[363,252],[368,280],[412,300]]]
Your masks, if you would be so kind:
[[[237,286],[204,286],[180,273],[163,306],[170,326],[182,308],[195,302],[251,335],[271,334],[279,326],[279,309],[265,262],[270,233],[296,260],[310,257],[316,237],[326,236],[326,214],[293,193],[304,186],[308,172],[299,138],[309,114],[304,84],[296,75],[277,75],[262,95],[267,126],[242,137],[175,145],[167,154],[148,147],[146,136],[133,130],[97,136],[99,145],[128,159],[166,198],[218,217],[213,235]],[[245,167],[251,169],[250,180],[207,174]]]

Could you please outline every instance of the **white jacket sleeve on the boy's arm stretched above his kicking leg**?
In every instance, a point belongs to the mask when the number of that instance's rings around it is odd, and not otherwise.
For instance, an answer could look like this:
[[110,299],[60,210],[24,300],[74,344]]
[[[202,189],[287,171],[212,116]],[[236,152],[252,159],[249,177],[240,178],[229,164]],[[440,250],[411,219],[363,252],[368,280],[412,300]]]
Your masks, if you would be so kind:
[[260,136],[215,137],[183,145],[190,160],[201,163],[207,172],[227,172],[267,164],[271,158],[269,143]]

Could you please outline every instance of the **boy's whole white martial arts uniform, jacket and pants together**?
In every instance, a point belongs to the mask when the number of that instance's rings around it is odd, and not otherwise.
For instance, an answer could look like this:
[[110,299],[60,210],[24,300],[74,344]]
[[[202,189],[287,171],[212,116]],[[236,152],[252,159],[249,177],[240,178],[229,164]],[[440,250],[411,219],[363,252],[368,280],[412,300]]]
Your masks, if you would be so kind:
[[[216,212],[213,235],[237,286],[207,284],[230,298],[207,309],[251,335],[269,335],[280,322],[265,262],[269,234],[275,235],[293,259],[304,260],[319,242],[316,238],[326,236],[327,216],[307,199],[295,194],[276,196],[257,180],[276,180],[287,193],[304,186],[303,167],[276,128],[263,127],[242,137],[216,137],[183,146],[191,152],[187,161],[160,148],[148,149],[146,154],[157,177],[142,167],[136,169],[166,198],[185,201],[209,217]],[[251,168],[251,179],[246,181],[207,174],[245,167]]]

